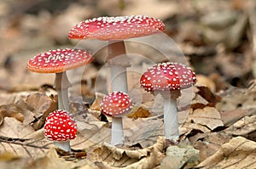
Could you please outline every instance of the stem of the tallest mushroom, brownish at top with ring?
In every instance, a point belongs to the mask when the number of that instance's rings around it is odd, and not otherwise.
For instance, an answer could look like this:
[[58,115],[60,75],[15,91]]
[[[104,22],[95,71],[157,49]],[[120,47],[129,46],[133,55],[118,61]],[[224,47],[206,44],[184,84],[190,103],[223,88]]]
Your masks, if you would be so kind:
[[127,73],[126,68],[130,66],[128,59],[125,57],[125,42],[111,41],[108,42],[108,63],[111,69],[111,85],[113,91],[127,93]]

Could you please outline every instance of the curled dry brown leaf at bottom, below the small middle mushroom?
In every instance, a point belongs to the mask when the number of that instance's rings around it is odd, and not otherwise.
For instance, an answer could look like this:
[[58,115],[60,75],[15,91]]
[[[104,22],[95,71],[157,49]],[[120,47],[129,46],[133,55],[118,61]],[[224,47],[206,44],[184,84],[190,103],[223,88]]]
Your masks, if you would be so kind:
[[108,166],[126,168],[153,168],[158,166],[165,155],[166,138],[161,137],[154,145],[145,148],[131,150],[118,148],[110,144],[103,144],[94,149],[90,154],[91,161],[100,161]]

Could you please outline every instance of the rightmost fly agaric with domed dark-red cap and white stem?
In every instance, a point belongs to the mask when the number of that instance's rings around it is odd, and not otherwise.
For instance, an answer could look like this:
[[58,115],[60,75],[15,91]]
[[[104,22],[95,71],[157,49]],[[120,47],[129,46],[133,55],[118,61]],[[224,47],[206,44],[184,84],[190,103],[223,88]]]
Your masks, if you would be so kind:
[[160,93],[164,99],[164,133],[167,139],[177,142],[177,98],[180,90],[195,85],[195,72],[178,63],[154,65],[143,73],[140,83],[147,92]]

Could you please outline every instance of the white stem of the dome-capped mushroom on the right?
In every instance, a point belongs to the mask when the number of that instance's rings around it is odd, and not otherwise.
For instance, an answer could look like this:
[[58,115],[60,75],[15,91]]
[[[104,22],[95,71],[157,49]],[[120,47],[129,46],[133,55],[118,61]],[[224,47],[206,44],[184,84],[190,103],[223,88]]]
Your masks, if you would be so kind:
[[[172,92],[160,91],[164,99],[164,134],[166,139],[177,142],[179,139],[177,122],[177,96],[171,96]],[[177,94],[177,93],[174,93]]]

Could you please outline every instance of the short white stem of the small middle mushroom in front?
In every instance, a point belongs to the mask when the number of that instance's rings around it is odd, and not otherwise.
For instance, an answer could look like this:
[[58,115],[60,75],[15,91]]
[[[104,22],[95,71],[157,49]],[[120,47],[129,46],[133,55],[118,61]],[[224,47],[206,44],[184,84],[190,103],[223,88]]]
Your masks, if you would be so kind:
[[111,144],[118,145],[124,144],[124,131],[123,131],[123,119],[122,117],[112,118],[112,129],[111,129]]

